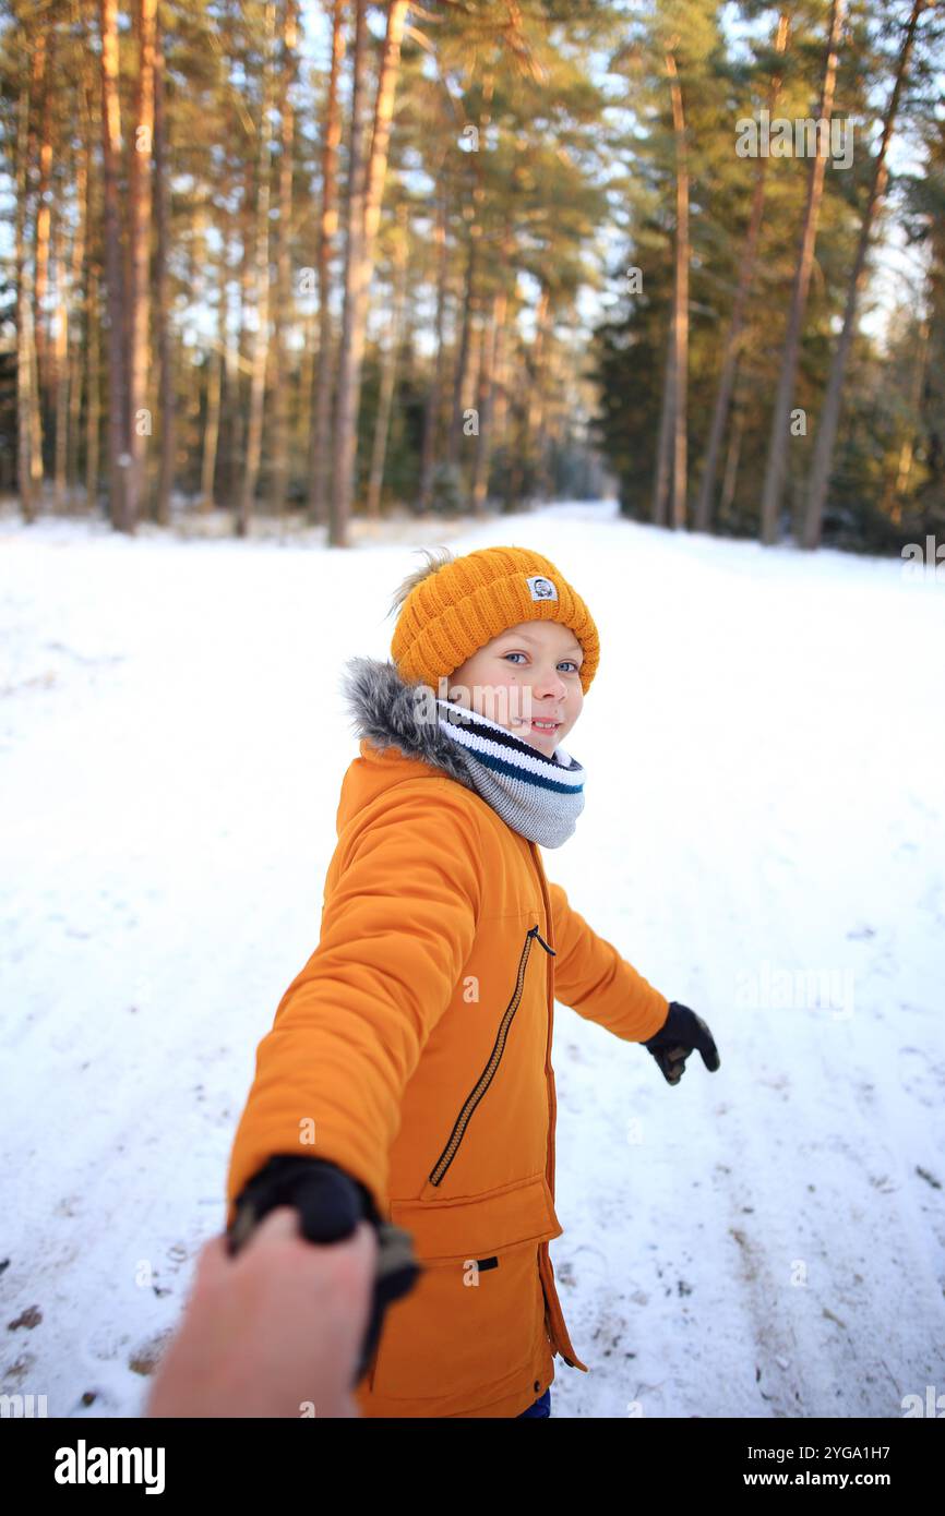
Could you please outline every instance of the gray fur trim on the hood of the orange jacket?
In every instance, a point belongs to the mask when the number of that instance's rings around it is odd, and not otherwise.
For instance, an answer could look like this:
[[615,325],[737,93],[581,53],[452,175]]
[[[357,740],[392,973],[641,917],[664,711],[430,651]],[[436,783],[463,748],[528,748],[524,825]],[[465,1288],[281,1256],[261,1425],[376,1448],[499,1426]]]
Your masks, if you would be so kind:
[[399,747],[408,758],[435,764],[451,779],[475,788],[463,750],[443,734],[438,722],[419,719],[423,706],[414,694],[417,685],[407,684],[394,662],[349,658],[341,688],[358,737],[366,737],[375,747]]

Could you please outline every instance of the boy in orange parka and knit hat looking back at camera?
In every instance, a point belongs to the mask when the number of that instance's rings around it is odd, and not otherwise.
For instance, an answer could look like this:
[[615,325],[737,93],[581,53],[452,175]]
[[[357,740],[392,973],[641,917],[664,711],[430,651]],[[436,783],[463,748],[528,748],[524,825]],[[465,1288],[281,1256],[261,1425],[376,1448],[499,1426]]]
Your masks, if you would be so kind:
[[319,946],[259,1043],[228,1226],[241,1242],[279,1204],[312,1242],[375,1223],[364,1416],[535,1414],[557,1354],[586,1370],[548,1249],[555,998],[670,1084],[693,1048],[719,1058],[545,875],[538,846],[584,807],[561,746],[599,659],[584,600],[540,553],[490,547],[428,556],[397,605],[393,661],[349,664],[361,756]]

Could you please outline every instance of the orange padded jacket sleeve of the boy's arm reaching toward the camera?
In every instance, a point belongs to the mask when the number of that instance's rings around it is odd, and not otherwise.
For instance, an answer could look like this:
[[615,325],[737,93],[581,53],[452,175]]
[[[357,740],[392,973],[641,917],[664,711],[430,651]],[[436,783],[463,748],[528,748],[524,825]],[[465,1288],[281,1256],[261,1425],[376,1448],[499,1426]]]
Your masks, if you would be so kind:
[[387,1196],[403,1087],[467,961],[481,908],[478,822],[452,781],[399,785],[341,840],[319,946],[256,1049],[226,1182],[228,1226],[276,1154],[323,1158]]

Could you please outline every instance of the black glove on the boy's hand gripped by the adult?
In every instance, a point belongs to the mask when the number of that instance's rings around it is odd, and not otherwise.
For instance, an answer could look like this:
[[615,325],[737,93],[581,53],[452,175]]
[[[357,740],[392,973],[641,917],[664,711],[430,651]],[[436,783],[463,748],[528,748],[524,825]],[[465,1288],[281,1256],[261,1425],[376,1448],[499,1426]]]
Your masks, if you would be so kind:
[[325,1158],[276,1154],[241,1190],[237,1214],[228,1231],[228,1252],[235,1255],[262,1217],[276,1205],[293,1205],[308,1242],[331,1243],[350,1237],[361,1220],[378,1234],[378,1272],[370,1319],[352,1389],[363,1378],[381,1337],[384,1311],[391,1301],[413,1290],[422,1264],[414,1258],[411,1236],[378,1213],[370,1190],[344,1169]]

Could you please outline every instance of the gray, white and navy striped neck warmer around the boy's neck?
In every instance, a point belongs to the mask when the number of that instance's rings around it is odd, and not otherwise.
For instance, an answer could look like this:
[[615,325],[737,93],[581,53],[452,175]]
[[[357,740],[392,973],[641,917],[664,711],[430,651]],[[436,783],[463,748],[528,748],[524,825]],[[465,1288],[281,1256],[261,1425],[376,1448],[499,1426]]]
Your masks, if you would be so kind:
[[473,790],[502,820],[542,847],[560,847],[584,810],[584,767],[557,747],[545,758],[505,726],[437,700],[438,725],[463,763]]

